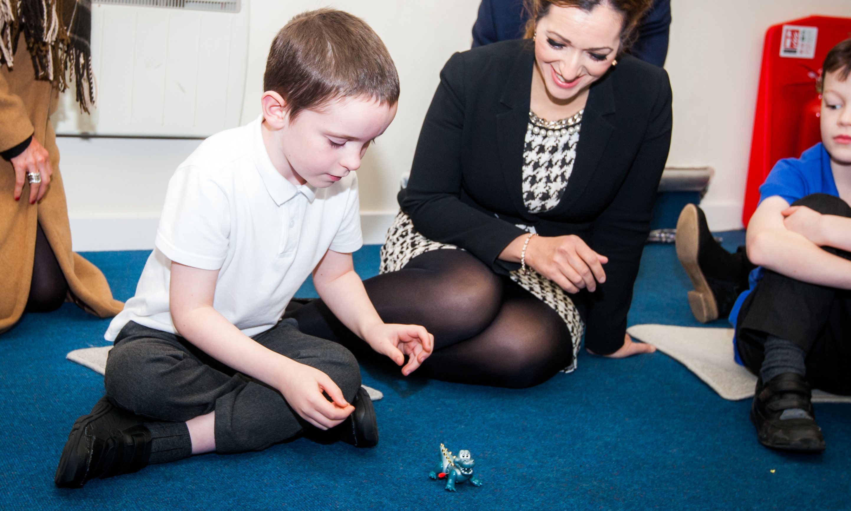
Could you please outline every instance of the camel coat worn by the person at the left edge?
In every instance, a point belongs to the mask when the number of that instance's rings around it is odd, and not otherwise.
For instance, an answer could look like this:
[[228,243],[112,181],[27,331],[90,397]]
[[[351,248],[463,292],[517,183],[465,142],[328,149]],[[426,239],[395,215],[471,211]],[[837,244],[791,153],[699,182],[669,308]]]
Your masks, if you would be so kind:
[[0,67],[0,151],[20,144],[31,134],[48,150],[53,176],[41,202],[30,204],[29,184],[14,200],[14,169],[0,159],[0,332],[13,326],[30,294],[37,224],[53,248],[68,281],[68,300],[99,317],[116,315],[123,304],[112,298],[106,277],[94,264],[71,252],[71,227],[65,188],[59,172],[59,149],[50,124],[59,91],[35,79],[23,37],[14,54],[14,70]]

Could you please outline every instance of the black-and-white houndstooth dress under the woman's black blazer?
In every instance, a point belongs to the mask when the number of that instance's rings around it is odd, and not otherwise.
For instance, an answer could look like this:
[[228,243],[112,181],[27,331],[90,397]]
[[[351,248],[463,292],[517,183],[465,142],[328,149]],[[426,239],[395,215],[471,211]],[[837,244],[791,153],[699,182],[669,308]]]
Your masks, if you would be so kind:
[[[549,122],[529,112],[523,147],[523,203],[529,213],[551,210],[562,200],[564,189],[574,169],[576,145],[580,138],[582,111],[561,121]],[[534,227],[517,225],[534,232]],[[432,241],[414,230],[414,223],[406,213],[399,212],[387,240],[381,248],[380,273],[402,270],[408,261],[432,250],[456,249],[448,243]],[[574,357],[563,372],[576,369],[585,323],[580,318],[573,300],[555,282],[528,268],[525,272],[512,271],[511,280],[532,293],[535,298],[554,309],[568,326],[573,341]]]

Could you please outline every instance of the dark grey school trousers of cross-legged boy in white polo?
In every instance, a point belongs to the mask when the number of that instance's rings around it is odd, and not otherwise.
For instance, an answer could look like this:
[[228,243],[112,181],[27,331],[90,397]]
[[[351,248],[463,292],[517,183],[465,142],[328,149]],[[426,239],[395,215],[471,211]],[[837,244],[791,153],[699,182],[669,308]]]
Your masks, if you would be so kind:
[[[361,373],[351,352],[302,333],[293,319],[279,321],[254,340],[327,374],[351,403]],[[276,389],[236,372],[185,338],[130,321],[110,350],[106,395],[131,412],[183,422],[215,410],[216,451],[259,451],[294,437],[310,423]]]

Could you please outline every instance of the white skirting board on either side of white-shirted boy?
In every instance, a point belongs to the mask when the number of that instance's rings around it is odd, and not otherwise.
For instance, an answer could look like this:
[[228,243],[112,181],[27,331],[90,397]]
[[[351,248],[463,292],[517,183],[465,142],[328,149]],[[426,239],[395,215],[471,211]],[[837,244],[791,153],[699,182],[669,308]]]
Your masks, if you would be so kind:
[[[395,211],[361,213],[363,242],[384,243]],[[157,236],[159,217],[72,217],[71,241],[75,252],[105,250],[151,250]]]

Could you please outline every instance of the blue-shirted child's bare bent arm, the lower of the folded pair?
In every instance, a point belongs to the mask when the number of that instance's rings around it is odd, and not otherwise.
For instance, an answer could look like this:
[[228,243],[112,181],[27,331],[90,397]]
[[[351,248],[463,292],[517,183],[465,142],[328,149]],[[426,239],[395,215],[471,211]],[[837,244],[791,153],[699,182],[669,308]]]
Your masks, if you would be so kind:
[[788,229],[783,215],[788,208],[789,202],[780,196],[770,196],[757,207],[746,234],[751,263],[798,281],[851,289],[851,261]]

